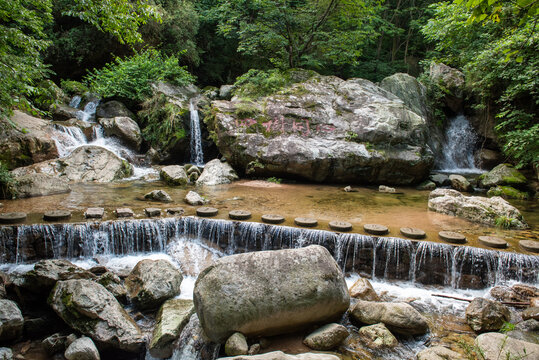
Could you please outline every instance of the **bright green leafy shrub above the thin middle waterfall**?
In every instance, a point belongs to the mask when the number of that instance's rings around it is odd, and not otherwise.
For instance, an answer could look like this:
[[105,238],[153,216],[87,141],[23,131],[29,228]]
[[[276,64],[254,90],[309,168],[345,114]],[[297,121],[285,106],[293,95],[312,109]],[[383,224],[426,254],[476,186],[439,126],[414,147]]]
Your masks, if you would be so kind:
[[116,58],[102,69],[94,69],[86,77],[92,91],[104,96],[118,96],[142,102],[152,95],[152,83],[167,81],[187,85],[195,78],[178,65],[175,56],[162,55],[147,49],[124,59]]

